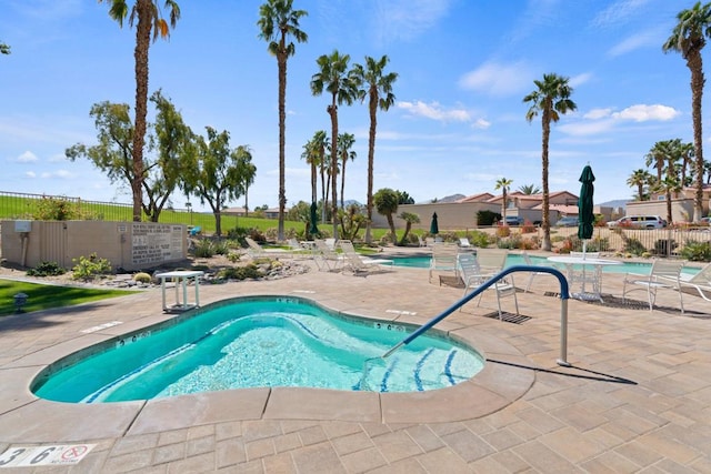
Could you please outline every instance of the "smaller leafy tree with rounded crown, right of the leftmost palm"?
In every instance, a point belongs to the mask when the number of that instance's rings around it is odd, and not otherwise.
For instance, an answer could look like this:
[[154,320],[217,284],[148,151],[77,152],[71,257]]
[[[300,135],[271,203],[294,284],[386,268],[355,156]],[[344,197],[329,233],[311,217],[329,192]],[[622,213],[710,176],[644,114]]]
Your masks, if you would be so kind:
[[249,147],[239,145],[232,150],[227,130],[220,133],[211,127],[206,130],[207,142],[202,137],[196,138],[196,154],[186,172],[183,191],[199,198],[201,204],[208,203],[214,215],[214,233],[220,236],[222,209],[244,194],[244,183],[253,178],[256,168],[250,167],[252,153]]

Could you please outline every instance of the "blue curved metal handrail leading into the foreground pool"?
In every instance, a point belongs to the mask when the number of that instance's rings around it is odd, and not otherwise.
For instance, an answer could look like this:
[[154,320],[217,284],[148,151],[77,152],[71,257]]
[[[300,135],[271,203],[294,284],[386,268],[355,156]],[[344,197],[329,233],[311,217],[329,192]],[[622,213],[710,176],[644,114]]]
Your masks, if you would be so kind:
[[381,355],[382,359],[389,357],[393,352],[398,351],[403,345],[407,345],[431,329],[434,324],[442,321],[444,317],[452,314],[455,310],[469,303],[477,295],[484,292],[490,286],[494,285],[499,280],[504,278],[505,275],[514,272],[535,272],[535,273],[550,273],[555,276],[560,283],[560,299],[561,299],[561,312],[560,312],[560,359],[557,361],[559,365],[570,366],[567,361],[567,352],[568,352],[568,300],[570,299],[570,292],[568,290],[568,280],[565,276],[558,270],[551,266],[534,266],[534,265],[514,265],[509,266],[508,269],[502,270],[490,280],[482,283],[479,288],[477,288],[473,292],[464,295],[457,303],[452,304],[450,307],[444,310],[439,315],[432,317],[430,321],[418,327],[412,334],[400,341],[397,345]]

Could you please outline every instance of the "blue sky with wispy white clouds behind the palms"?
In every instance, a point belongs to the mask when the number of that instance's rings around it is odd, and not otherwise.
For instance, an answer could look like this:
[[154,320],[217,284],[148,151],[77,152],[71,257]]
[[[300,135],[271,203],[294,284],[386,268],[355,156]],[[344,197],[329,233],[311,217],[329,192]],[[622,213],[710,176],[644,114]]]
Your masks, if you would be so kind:
[[[178,0],[170,41],[150,50],[150,91],[162,89],[193,131],[228,130],[257,165],[249,206],[278,204],[277,61],[258,38],[261,0]],[[89,110],[134,103],[134,30],[90,0],[4,0],[0,41],[0,191],[130,202],[88,161],[64,150],[93,144]],[[162,1],[161,1],[162,3]],[[630,198],[625,183],[657,141],[692,140],[690,74],[664,54],[688,0],[294,0],[309,16],[289,60],[288,205],[310,200],[303,144],[328,130],[327,95],[313,97],[316,60],[338,50],[351,64],[390,58],[397,101],[378,115],[374,189],[407,191],[417,202],[541,183],[540,118],[525,121],[522,99],[534,80],[570,78],[574,113],[555,123],[550,189],[578,193],[590,163],[595,202]],[[708,49],[708,48],[707,48]],[[707,92],[708,93],[708,92]],[[150,119],[150,117],[149,117]],[[339,109],[341,132],[356,135],[346,199],[365,202],[368,111]],[[708,122],[704,114],[704,122]],[[709,143],[709,133],[704,142]],[[177,193],[173,203],[187,199]],[[191,199],[194,203],[197,200]],[[243,205],[240,198],[230,205]],[[198,209],[198,208],[196,208]]]

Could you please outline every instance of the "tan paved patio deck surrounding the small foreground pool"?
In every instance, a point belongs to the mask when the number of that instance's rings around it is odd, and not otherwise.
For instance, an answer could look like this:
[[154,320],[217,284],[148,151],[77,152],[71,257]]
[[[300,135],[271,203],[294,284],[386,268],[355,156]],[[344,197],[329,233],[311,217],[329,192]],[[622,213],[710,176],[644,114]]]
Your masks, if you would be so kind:
[[[311,264],[304,261],[306,264]],[[711,473],[711,306],[660,291],[658,307],[569,302],[568,362],[560,355],[558,282],[519,293],[518,323],[495,297],[437,327],[477,346],[485,369],[457,387],[418,394],[252,389],[148,402],[74,405],[29,392],[48,364],[144,327],[162,313],[160,289],[70,310],[0,320],[0,453],[91,443],[74,466],[37,472],[694,472]],[[528,275],[517,275],[524,288]],[[202,305],[249,294],[310,297],[331,309],[421,324],[461,290],[420,269],[356,276],[311,272],[278,281],[201,285]],[[645,299],[643,293],[635,297]],[[512,311],[513,301],[502,300]],[[401,313],[399,313],[401,312]],[[415,313],[415,314],[408,314]],[[122,324],[86,333],[111,321]],[[3,470],[33,472],[32,467]]]

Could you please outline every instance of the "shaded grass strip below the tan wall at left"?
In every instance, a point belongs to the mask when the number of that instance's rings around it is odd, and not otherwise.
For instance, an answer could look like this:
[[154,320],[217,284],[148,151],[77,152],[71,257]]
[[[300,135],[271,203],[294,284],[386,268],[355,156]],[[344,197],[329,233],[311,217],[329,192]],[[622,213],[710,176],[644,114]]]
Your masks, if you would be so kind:
[[0,317],[16,312],[13,296],[18,293],[28,295],[27,304],[22,307],[22,312],[29,313],[31,311],[71,306],[107,297],[122,296],[136,292],[56,286],[0,279]]

